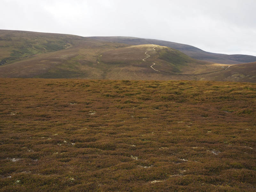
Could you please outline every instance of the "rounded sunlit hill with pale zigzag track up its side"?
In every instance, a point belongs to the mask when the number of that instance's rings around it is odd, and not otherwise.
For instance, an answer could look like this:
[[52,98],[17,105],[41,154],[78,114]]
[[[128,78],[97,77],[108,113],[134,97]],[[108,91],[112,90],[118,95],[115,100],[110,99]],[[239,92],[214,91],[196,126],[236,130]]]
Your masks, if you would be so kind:
[[[156,47],[155,50],[153,47]],[[143,61],[142,59],[147,57],[145,52],[150,57]],[[156,75],[173,78],[172,76],[175,74],[200,74],[216,71],[216,65],[212,65],[210,62],[195,60],[175,49],[152,44],[135,45],[103,52],[100,62],[108,65],[112,76],[115,75],[114,71],[124,71],[124,73],[116,74],[115,79],[122,79],[122,77],[132,79],[131,77],[135,75],[151,79],[154,79]],[[154,68],[159,71],[158,73],[150,68],[152,63],[156,64]],[[221,69],[220,66],[219,68]]]

